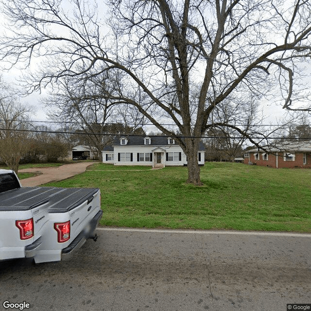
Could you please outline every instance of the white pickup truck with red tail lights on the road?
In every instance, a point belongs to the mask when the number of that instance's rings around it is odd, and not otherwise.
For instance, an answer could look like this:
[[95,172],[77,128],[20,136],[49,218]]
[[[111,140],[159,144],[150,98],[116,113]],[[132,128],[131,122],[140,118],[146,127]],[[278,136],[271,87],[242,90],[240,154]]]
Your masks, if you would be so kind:
[[102,215],[98,188],[22,188],[14,171],[0,170],[0,260],[69,257],[97,240]]

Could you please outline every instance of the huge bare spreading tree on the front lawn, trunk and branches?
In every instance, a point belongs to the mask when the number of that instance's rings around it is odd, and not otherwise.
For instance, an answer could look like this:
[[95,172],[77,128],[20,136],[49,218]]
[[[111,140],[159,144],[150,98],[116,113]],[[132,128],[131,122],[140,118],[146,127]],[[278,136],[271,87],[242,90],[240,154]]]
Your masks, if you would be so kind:
[[[104,98],[135,107],[174,136],[162,125],[171,120],[185,138],[175,137],[188,157],[189,183],[201,184],[198,144],[228,97],[247,89],[283,98],[286,109],[310,108],[299,106],[310,94],[297,69],[311,56],[310,0],[110,0],[112,40],[100,12],[83,0],[66,8],[61,0],[2,5],[14,32],[2,41],[2,59],[43,57],[30,91],[62,76],[118,72],[122,79]],[[231,121],[222,125],[247,137]]]

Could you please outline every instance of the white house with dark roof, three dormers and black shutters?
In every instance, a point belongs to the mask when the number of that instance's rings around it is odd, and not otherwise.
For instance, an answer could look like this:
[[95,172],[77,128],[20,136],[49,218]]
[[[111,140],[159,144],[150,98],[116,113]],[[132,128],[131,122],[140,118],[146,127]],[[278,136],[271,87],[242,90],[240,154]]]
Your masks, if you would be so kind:
[[[182,148],[171,137],[116,137],[112,146],[106,146],[103,163],[114,165],[150,165],[152,167],[187,165]],[[205,148],[199,145],[198,163],[204,165]]]

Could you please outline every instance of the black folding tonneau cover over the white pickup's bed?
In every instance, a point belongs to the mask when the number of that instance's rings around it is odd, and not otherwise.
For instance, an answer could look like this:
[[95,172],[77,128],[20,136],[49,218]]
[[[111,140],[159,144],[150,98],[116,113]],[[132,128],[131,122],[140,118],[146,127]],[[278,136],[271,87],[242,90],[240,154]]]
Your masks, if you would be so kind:
[[90,202],[98,188],[18,188],[0,193],[0,211],[29,210],[49,202],[49,213],[65,213]]

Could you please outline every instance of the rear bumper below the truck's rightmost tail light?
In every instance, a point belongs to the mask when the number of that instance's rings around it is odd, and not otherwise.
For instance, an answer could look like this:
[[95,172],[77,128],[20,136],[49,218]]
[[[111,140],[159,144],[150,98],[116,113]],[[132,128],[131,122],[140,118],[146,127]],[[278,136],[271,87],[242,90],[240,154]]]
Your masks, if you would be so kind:
[[94,234],[94,231],[102,219],[102,216],[103,211],[100,210],[90,221],[88,228],[80,232],[66,248],[62,249],[62,260],[70,259],[72,252],[79,249],[86,242],[86,239],[90,238]]

